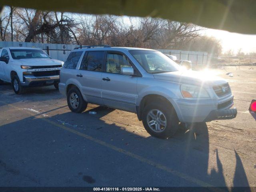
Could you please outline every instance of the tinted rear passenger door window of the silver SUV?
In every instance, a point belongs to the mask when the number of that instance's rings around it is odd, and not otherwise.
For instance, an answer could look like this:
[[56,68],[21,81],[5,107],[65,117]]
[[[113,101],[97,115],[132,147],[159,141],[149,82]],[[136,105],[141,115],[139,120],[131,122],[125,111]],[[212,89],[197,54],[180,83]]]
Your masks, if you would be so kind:
[[80,65],[80,70],[102,71],[104,62],[104,51],[88,51],[84,54],[84,58]]

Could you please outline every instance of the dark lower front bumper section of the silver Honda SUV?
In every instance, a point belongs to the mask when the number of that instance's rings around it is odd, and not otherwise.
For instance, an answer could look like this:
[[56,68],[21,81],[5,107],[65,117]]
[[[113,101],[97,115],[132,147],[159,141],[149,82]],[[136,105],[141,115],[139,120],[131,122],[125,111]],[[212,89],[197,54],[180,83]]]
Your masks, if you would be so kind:
[[209,122],[212,120],[233,119],[236,117],[236,114],[237,114],[236,108],[226,109],[226,110],[213,110],[204,119],[204,122]]

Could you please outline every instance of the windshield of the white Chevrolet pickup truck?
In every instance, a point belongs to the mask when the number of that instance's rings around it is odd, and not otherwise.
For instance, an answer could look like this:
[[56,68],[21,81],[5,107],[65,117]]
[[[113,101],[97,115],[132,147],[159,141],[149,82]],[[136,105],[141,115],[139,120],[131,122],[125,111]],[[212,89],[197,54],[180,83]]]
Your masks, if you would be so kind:
[[13,59],[50,58],[45,52],[38,49],[11,49]]

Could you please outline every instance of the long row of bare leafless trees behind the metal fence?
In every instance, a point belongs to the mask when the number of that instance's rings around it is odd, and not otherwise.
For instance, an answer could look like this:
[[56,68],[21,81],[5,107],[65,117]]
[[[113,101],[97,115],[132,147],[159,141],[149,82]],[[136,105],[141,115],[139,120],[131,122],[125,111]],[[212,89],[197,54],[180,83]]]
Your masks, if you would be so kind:
[[1,40],[189,49],[202,28],[157,18],[120,19],[10,7],[0,18]]

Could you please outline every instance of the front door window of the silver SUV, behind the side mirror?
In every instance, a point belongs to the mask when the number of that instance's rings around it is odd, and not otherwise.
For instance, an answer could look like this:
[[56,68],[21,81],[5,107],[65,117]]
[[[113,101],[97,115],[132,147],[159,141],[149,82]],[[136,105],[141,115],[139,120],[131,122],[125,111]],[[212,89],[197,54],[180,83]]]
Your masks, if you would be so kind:
[[122,67],[132,67],[130,60],[123,54],[108,53],[106,60],[106,72],[121,74]]

